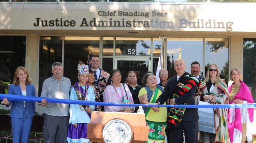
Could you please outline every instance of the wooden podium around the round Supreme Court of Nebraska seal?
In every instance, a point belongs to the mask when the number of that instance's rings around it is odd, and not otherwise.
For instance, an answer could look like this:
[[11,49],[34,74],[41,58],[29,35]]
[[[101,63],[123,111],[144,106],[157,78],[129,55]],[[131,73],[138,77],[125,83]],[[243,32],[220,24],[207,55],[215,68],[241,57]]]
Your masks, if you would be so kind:
[[148,126],[145,114],[121,112],[92,112],[91,121],[87,124],[87,138],[90,142],[104,142],[102,131],[105,124],[111,119],[125,120],[132,131],[132,143],[145,143],[148,141]]

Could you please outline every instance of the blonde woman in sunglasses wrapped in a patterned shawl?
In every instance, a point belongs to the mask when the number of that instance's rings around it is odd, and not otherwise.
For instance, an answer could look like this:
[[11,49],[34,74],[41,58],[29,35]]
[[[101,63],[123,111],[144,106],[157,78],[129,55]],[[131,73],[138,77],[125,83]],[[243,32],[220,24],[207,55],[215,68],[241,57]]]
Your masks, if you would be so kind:
[[[212,104],[228,104],[228,87],[225,80],[219,77],[219,69],[216,64],[211,64],[209,66],[206,79],[201,84],[200,92],[202,94],[201,100],[204,100],[205,102],[212,102]],[[213,112],[216,131],[214,142],[230,143],[227,128],[227,109],[214,108]],[[207,137],[207,133],[203,132],[203,135],[201,134],[201,136]],[[208,137],[211,138],[211,134],[208,133]],[[210,141],[211,140],[206,139],[203,140],[203,142]]]

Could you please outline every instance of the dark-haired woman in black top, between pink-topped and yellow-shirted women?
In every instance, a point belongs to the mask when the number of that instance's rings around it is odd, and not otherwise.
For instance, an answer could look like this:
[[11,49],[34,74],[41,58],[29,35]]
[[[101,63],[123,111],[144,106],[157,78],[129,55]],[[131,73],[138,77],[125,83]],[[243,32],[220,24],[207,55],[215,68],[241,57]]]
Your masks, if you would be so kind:
[[[134,104],[140,104],[140,100],[138,98],[140,89],[143,88],[143,86],[137,84],[137,75],[134,71],[129,71],[126,75],[126,81],[127,85],[130,89]],[[135,107],[134,113],[137,113],[137,110],[139,107]]]

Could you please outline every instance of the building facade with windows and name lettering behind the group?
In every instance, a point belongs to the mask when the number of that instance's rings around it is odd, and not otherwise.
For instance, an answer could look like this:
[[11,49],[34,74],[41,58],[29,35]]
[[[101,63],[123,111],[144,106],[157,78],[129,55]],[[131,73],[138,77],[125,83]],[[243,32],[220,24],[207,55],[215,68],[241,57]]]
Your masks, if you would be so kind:
[[40,96],[54,62],[64,64],[64,77],[73,84],[78,61],[86,63],[91,50],[100,68],[121,70],[122,82],[134,70],[140,83],[146,71],[156,71],[163,46],[169,77],[179,54],[186,71],[198,61],[202,75],[216,63],[226,82],[237,67],[256,100],[255,6],[210,0],[2,1],[0,80],[9,82],[17,66],[25,66]]

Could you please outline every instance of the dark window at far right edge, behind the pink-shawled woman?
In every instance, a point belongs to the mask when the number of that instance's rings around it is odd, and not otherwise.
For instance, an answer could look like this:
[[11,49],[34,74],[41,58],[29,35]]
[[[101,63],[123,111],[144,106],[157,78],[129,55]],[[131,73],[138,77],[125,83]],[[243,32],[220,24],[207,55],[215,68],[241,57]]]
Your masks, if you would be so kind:
[[243,81],[252,93],[254,103],[256,102],[256,39],[243,39]]

